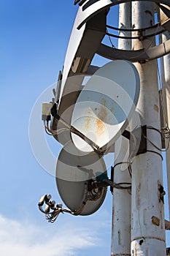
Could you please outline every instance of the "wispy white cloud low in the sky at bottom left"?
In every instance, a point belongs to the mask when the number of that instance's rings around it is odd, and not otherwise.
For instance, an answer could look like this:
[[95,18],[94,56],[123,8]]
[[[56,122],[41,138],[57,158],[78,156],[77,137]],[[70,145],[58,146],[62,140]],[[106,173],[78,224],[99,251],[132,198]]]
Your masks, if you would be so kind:
[[74,224],[69,224],[69,228],[54,225],[30,225],[28,221],[7,219],[0,215],[1,255],[71,256],[77,255],[79,249],[100,244],[93,229],[77,228]]

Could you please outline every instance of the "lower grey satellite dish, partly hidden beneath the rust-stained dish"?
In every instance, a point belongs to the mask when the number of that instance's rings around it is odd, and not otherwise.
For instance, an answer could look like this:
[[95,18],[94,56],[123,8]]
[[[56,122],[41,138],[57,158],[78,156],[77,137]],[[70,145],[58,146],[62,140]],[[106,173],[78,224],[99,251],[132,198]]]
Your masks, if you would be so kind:
[[104,202],[107,187],[89,191],[91,181],[107,178],[104,159],[96,152],[82,152],[69,141],[58,157],[55,176],[63,203],[77,215],[93,214]]

